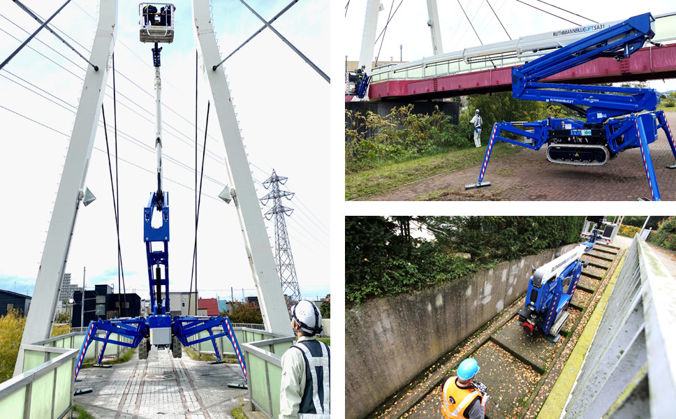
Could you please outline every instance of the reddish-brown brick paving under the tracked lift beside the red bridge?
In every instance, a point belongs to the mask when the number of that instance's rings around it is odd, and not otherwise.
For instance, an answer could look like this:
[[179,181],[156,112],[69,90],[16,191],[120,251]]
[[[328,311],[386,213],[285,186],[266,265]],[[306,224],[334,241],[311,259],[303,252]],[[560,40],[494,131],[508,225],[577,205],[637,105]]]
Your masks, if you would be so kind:
[[[666,112],[676,128],[676,112]],[[485,145],[484,145],[485,146]],[[514,146],[518,147],[518,146]],[[663,200],[676,200],[676,169],[666,135],[650,146],[657,183]],[[523,149],[511,156],[491,159],[485,179],[491,186],[464,190],[476,182],[480,167],[466,168],[399,188],[372,200],[419,200],[429,193],[443,193],[440,200],[637,200],[650,198],[639,149],[621,152],[603,166],[583,167],[550,163],[546,149]]]

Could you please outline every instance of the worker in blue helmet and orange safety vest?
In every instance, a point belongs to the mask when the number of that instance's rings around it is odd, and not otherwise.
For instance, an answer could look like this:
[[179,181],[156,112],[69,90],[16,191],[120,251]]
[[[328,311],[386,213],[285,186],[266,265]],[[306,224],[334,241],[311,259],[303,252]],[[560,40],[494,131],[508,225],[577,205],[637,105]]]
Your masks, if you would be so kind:
[[479,365],[467,358],[457,367],[457,376],[448,376],[441,385],[441,411],[446,419],[483,419],[486,414],[486,386],[474,382]]

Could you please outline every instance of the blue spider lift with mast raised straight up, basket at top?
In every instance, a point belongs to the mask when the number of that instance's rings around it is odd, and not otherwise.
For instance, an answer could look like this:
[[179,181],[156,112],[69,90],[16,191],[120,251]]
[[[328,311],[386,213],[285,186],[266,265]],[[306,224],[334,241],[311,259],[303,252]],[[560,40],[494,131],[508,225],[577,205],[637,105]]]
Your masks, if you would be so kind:
[[[172,4],[141,3],[139,5],[140,41],[154,43],[152,49],[155,68],[155,103],[156,133],[155,149],[157,152],[157,190],[151,193],[147,207],[143,210],[143,237],[146,244],[150,304],[152,314],[138,318],[114,318],[110,320],[92,321],[82,342],[78,362],[75,366],[75,380],[78,379],[84,354],[92,341],[101,341],[101,353],[96,364],[101,366],[105,347],[108,344],[138,347],[138,358],[145,360],[154,346],[158,350],[169,348],[174,358],[181,358],[182,345],[190,346],[211,341],[217,362],[222,362],[221,352],[216,339],[227,337],[233,344],[235,355],[242,367],[244,379],[247,379],[247,368],[240,351],[240,345],[233,332],[230,320],[221,316],[175,316],[170,315],[169,301],[169,194],[162,187],[162,123],[161,123],[161,78],[159,43],[171,43],[174,35],[174,10]],[[153,216],[161,217],[161,224],[154,227]],[[214,332],[213,328],[221,327],[222,332]],[[105,336],[96,335],[98,330],[105,331]],[[199,337],[207,332],[208,336]],[[112,334],[131,339],[131,342],[111,339]],[[240,386],[241,387],[241,386]],[[78,393],[79,394],[79,393]]]

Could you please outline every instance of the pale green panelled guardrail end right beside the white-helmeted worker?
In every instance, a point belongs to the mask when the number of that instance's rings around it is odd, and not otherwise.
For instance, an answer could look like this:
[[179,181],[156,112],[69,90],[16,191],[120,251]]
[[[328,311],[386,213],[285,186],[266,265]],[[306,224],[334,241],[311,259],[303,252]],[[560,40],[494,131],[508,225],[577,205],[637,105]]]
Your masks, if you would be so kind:
[[281,355],[293,346],[295,336],[263,332],[267,339],[240,344],[249,370],[251,410],[257,409],[268,418],[279,417],[281,390]]

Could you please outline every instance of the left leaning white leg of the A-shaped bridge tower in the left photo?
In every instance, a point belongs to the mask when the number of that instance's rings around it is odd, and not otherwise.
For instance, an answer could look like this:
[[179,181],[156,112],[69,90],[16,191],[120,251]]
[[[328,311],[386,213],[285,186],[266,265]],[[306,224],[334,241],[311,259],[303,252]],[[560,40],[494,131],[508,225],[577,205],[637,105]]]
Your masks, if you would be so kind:
[[[33,309],[28,311],[21,344],[42,341],[49,338],[52,332],[54,311],[61,289],[61,280],[66,270],[75,219],[78,215],[80,201],[84,197],[84,181],[87,178],[105,83],[108,80],[108,60],[115,47],[116,36],[117,0],[101,0],[98,27],[89,58],[89,61],[98,66],[98,71],[88,66],[84,77],[80,106],[75,115],[64,172],[61,173],[61,182],[57,199],[54,201],[52,219],[49,230],[47,230],[47,239],[31,301]],[[14,376],[22,374],[23,363],[24,351],[20,348]]]

